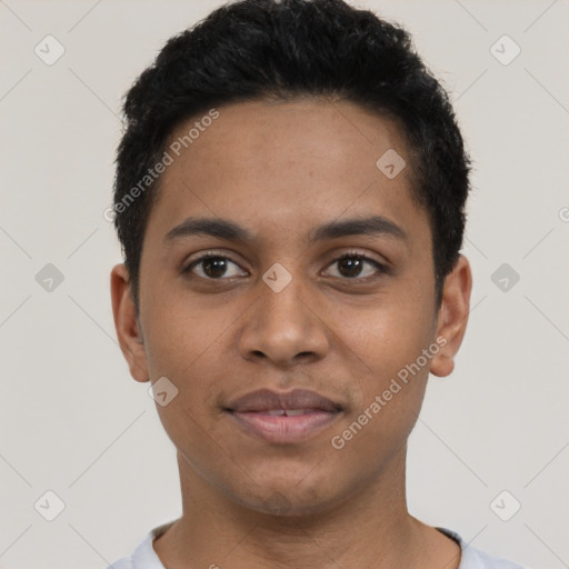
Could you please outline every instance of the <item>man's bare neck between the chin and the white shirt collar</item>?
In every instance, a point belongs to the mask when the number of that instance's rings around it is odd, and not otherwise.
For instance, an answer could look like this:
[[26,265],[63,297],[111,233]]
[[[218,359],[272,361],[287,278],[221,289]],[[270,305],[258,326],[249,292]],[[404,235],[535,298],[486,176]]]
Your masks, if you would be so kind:
[[[316,512],[300,513],[291,505],[286,516],[229,499],[179,456],[183,513],[154,550],[167,569],[428,567],[426,556],[452,569],[449,556],[457,546],[407,511],[405,451],[373,483],[362,481]],[[446,548],[442,557],[435,541]]]

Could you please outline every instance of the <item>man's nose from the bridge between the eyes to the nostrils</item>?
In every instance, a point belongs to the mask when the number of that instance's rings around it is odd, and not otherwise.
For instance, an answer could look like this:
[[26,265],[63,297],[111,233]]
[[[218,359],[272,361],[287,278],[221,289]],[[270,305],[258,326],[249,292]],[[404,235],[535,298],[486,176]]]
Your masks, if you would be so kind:
[[310,287],[302,277],[276,263],[259,282],[261,298],[240,336],[242,357],[264,356],[279,365],[299,356],[322,357],[328,336],[311,306]]

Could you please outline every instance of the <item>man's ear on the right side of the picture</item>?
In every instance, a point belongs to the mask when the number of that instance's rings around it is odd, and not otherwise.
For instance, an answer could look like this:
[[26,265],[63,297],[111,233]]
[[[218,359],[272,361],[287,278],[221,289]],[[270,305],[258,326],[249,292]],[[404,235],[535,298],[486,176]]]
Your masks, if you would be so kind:
[[441,339],[438,343],[442,347],[431,360],[430,372],[433,376],[449,376],[455,369],[455,356],[467,330],[471,290],[472,271],[468,259],[461,254],[455,269],[445,279],[437,320],[437,338]]

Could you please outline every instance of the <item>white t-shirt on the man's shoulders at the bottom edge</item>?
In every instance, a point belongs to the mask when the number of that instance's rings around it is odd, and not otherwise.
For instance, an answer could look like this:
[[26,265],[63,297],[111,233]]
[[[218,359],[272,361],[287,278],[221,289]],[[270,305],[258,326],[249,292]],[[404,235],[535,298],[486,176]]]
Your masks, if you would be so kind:
[[[164,569],[164,566],[156,555],[152,541],[158,536],[161,536],[174,523],[174,521],[170,521],[154,528],[150,533],[148,533],[140,546],[137,547],[131,557],[119,559],[107,569]],[[492,557],[468,546],[455,531],[446,528],[437,529],[459,543],[460,549],[462,550],[459,569],[523,569],[523,567],[518,563]]]

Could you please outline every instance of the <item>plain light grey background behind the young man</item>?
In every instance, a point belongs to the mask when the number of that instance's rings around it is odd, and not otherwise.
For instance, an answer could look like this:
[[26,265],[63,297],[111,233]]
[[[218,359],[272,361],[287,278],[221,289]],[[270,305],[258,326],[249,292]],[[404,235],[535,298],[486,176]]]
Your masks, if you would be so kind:
[[[121,256],[103,210],[120,97],[220,3],[0,1],[1,568],[106,567],[180,513],[173,447],[116,341]],[[472,313],[411,437],[410,511],[529,567],[569,567],[568,3],[357,6],[412,32],[476,161]],[[34,52],[57,53],[48,34],[66,50],[51,66]],[[508,64],[505,34],[521,49]],[[64,502],[53,521],[48,490]]]

